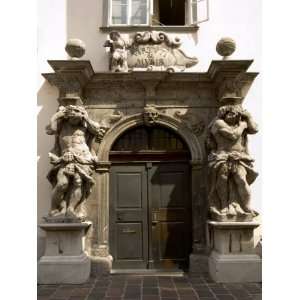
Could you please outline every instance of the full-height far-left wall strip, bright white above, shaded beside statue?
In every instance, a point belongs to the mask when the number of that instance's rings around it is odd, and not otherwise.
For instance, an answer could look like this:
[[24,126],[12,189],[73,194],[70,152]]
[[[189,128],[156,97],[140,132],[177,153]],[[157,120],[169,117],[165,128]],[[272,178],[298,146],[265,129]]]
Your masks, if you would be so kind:
[[[38,71],[37,71],[37,222],[50,207],[51,186],[46,180],[50,168],[48,152],[54,145],[52,136],[45,134],[45,127],[56,111],[58,91],[44,80],[41,73],[52,72],[48,59],[66,59],[63,51],[67,39],[66,1],[38,1]],[[38,230],[37,254],[44,249],[44,234]]]

